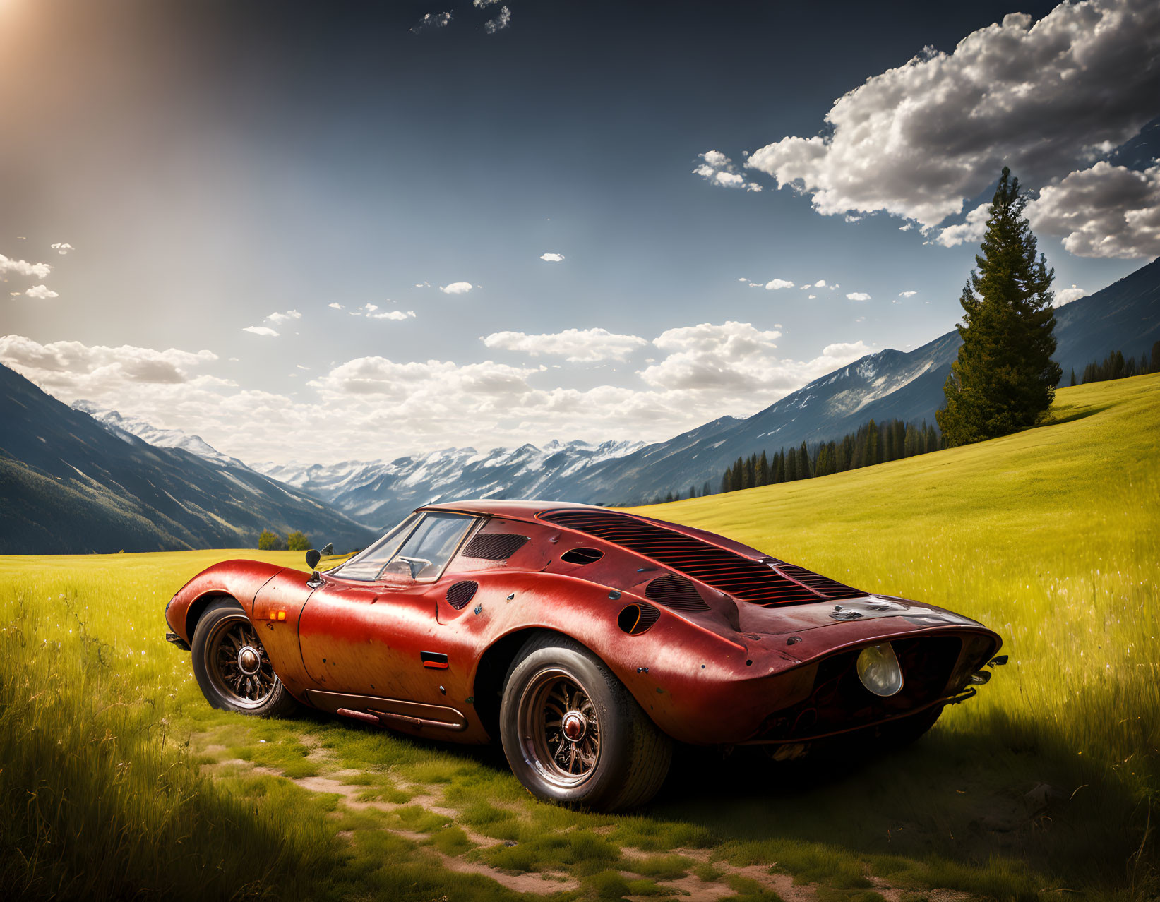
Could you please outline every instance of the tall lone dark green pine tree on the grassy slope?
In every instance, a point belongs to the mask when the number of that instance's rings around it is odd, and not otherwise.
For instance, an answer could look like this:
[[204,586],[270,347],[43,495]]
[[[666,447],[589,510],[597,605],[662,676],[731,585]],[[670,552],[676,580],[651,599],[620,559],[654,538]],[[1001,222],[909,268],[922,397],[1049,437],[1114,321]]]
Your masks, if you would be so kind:
[[1056,317],[1054,270],[1036,259],[1036,240],[1023,216],[1027,196],[1003,167],[978,271],[963,289],[963,347],[951,364],[938,410],[943,442],[962,445],[1034,425],[1046,414],[1063,374],[1051,359]]

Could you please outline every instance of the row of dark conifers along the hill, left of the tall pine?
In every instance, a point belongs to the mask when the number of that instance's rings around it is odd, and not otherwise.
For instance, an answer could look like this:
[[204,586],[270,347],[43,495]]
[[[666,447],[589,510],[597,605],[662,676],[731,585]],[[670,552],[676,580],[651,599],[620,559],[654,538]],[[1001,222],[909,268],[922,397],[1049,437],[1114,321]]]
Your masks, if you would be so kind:
[[831,473],[937,451],[941,445],[938,430],[927,425],[926,421],[906,423],[891,420],[879,424],[871,420],[858,427],[857,431],[847,432],[832,442],[818,442],[813,446],[803,442],[798,448],[778,449],[771,457],[764,451],[739,457],[722,474],[720,490],[737,492],[755,486],[827,477]]

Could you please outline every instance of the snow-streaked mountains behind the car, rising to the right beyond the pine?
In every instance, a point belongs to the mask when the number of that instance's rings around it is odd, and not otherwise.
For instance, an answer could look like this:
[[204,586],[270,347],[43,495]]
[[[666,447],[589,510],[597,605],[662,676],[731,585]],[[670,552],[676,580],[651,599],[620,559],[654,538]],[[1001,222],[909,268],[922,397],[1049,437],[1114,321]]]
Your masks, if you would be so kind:
[[[1160,340],[1160,261],[1056,311],[1056,359],[1081,373],[1114,350],[1139,356]],[[449,449],[423,458],[333,466],[258,468],[312,492],[350,516],[385,525],[420,503],[456,497],[641,502],[686,492],[741,454],[839,438],[868,420],[934,423],[960,344],[949,332],[912,351],[884,350],[835,370],[747,419],[724,416],[645,446],[524,445],[477,454]]]

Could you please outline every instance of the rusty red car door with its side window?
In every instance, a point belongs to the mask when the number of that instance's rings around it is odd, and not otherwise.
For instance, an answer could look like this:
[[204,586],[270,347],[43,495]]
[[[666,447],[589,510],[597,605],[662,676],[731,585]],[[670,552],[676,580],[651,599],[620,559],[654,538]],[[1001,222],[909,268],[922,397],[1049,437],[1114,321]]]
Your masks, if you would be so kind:
[[440,650],[435,598],[443,569],[478,523],[462,514],[420,514],[324,576],[299,627],[304,665],[322,686],[312,701],[328,710],[412,714],[406,705],[372,701],[445,705],[440,688],[447,654]]

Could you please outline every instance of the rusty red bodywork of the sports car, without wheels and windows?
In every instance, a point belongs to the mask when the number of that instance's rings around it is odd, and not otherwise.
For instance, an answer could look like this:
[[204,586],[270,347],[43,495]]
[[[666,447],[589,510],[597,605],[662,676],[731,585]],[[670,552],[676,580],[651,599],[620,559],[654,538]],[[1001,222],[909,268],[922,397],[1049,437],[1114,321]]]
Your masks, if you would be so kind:
[[[432,579],[384,572],[349,580],[340,566],[312,588],[299,570],[227,561],[183,587],[166,619],[188,642],[197,605],[233,597],[298,700],[413,735],[476,743],[495,739],[487,716],[495,703],[481,693],[501,689],[502,671],[534,631],[586,646],[664,733],[695,744],[796,743],[913,715],[964,693],[1001,645],[960,614],[860,592],[676,524],[560,503],[421,510],[473,518]],[[596,528],[552,522],[561,511],[639,528],[645,538],[626,547]],[[673,565],[675,552],[665,552],[665,563],[660,551],[641,550],[657,536],[679,537],[679,551],[699,543],[759,582],[768,570],[769,584],[793,601],[757,604],[741,590],[723,591],[728,573],[690,576],[704,568]],[[858,652],[883,642],[906,677],[891,698],[861,689],[853,672]],[[499,684],[481,667],[493,653]]]

